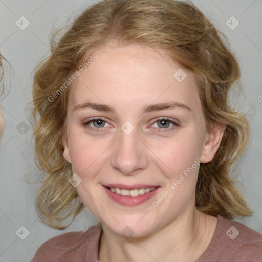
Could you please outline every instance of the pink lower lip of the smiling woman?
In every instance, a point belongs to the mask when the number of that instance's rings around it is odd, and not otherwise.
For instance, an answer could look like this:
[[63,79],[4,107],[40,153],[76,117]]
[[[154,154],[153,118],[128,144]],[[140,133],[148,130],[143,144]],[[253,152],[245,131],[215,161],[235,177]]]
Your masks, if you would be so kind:
[[142,195],[138,195],[137,197],[129,197],[129,196],[124,196],[121,194],[117,194],[112,192],[110,189],[107,187],[103,186],[105,189],[105,192],[109,195],[109,197],[115,201],[116,203],[123,205],[123,206],[137,206],[140,205],[150,198],[152,198],[156,192],[158,191],[159,187],[157,187],[155,190],[150,191],[148,193],[144,193]]

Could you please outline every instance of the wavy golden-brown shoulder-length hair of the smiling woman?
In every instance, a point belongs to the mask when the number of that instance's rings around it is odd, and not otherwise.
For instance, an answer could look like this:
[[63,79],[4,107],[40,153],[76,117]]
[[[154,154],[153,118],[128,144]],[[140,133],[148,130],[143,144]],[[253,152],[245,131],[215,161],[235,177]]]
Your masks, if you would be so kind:
[[[69,183],[72,166],[63,157],[70,85],[62,86],[98,48],[110,43],[161,50],[193,72],[206,127],[225,128],[213,160],[200,164],[195,206],[227,219],[252,214],[230,178],[232,164],[244,154],[251,136],[246,115],[228,102],[230,87],[240,77],[239,65],[226,37],[197,7],[188,1],[103,0],[82,11],[57,40],[58,33],[53,33],[51,54],[37,65],[33,79],[34,158],[47,174],[36,197],[43,223],[67,228],[84,208]],[[62,224],[71,215],[69,224]]]

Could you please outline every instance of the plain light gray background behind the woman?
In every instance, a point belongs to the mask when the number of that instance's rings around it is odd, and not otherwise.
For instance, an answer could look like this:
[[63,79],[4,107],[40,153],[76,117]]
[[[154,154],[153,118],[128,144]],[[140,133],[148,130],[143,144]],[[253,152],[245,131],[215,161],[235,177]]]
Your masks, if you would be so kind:
[[[262,233],[262,1],[261,0],[201,0],[193,1],[229,39],[242,70],[244,93],[232,93],[232,103],[249,116],[253,138],[239,163],[235,177],[241,180],[245,195],[254,215],[241,221]],[[6,129],[0,144],[0,261],[26,262],[32,259],[37,248],[47,239],[68,232],[85,231],[97,223],[85,210],[66,230],[54,230],[39,219],[35,197],[41,179],[33,162],[30,112],[26,104],[31,99],[32,69],[49,53],[49,36],[53,28],[67,25],[70,19],[91,1],[69,0],[0,0],[0,51],[12,65],[7,70],[10,93],[2,102]],[[30,25],[21,30],[16,21],[25,16]],[[239,21],[229,20],[234,16]],[[25,23],[24,23],[25,25]],[[24,129],[23,129],[24,128]],[[24,226],[29,235],[20,239],[16,234]],[[20,232],[20,231],[19,231]],[[24,233],[26,231],[24,230]],[[23,233],[23,234],[24,234]]]

